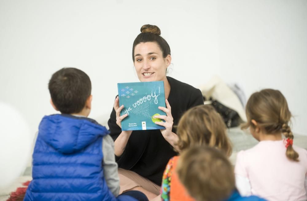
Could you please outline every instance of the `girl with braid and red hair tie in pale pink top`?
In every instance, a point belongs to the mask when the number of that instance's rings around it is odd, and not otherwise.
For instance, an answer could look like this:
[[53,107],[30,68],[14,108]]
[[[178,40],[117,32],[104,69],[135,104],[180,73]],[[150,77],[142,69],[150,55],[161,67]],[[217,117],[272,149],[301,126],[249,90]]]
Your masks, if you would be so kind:
[[239,192],[268,200],[307,200],[307,151],[293,146],[285,97],[273,89],[256,92],[247,101],[246,116],[242,128],[250,128],[259,143],[237,155]]

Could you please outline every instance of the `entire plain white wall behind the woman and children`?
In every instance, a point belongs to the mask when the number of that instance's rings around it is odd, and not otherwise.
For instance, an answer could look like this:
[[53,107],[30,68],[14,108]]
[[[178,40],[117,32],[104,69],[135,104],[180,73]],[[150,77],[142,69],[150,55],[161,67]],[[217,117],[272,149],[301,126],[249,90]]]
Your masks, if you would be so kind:
[[0,101],[15,106],[32,133],[55,113],[48,81],[69,66],[92,81],[90,118],[112,110],[118,82],[138,81],[132,43],[158,25],[172,51],[171,76],[195,87],[212,75],[247,95],[280,89],[307,133],[307,1],[5,1],[0,0]]

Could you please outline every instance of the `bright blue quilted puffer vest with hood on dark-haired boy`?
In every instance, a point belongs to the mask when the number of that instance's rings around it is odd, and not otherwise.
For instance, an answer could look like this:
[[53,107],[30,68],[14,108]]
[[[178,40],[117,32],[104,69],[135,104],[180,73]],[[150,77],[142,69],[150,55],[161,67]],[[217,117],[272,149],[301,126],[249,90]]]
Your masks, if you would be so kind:
[[89,118],[45,116],[24,200],[116,201],[103,176],[102,139],[108,133]]

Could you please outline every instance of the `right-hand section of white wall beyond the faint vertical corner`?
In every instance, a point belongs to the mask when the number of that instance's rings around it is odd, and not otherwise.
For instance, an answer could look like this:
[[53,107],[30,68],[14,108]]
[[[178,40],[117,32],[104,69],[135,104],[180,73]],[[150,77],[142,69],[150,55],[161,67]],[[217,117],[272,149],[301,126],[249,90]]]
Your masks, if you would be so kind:
[[249,97],[279,89],[295,133],[307,134],[307,1],[220,1],[220,71]]

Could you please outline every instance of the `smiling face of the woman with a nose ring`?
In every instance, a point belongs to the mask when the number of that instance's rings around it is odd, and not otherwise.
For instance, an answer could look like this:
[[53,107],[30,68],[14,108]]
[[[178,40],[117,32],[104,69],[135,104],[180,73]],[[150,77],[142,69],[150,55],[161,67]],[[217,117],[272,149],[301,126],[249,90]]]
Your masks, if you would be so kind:
[[139,43],[134,48],[134,67],[141,82],[166,80],[171,56],[163,58],[156,42]]

